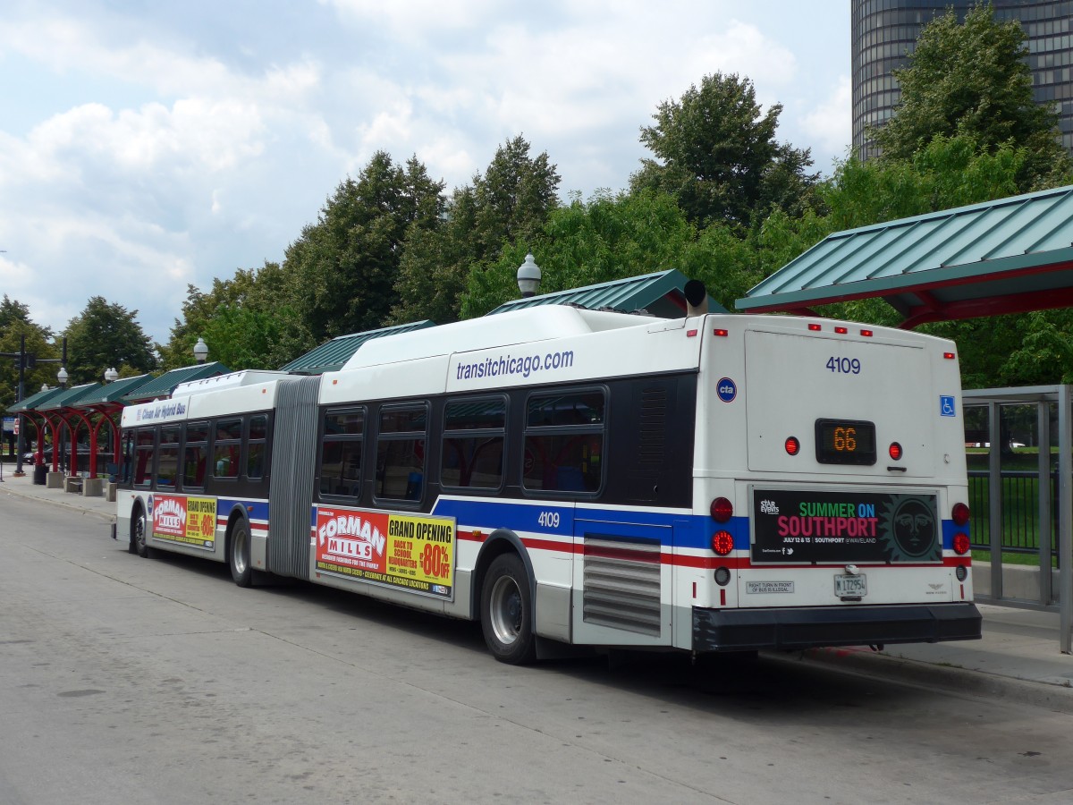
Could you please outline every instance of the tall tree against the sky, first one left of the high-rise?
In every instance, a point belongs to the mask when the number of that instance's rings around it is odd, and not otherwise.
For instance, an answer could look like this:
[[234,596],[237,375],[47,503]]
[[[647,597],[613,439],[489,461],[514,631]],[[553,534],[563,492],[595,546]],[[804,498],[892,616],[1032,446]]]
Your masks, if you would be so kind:
[[762,112],[752,82],[736,74],[706,75],[678,101],[664,101],[641,129],[641,142],[658,158],[642,160],[633,190],[673,194],[699,226],[748,225],[770,209],[799,215],[813,200],[818,174],[808,149],[775,140],[781,104]]

